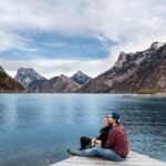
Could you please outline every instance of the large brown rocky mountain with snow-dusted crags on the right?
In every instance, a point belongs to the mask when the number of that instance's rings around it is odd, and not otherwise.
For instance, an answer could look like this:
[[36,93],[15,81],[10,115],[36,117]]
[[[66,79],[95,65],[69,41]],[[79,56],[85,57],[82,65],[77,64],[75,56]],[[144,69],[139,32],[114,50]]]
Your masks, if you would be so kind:
[[121,52],[105,73],[77,90],[80,93],[165,93],[166,43],[154,42],[136,53]]

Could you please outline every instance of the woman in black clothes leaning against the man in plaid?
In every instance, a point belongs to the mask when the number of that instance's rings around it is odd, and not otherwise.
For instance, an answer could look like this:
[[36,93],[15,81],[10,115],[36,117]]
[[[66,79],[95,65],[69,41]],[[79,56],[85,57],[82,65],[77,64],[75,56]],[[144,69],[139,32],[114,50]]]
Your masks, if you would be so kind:
[[112,127],[107,122],[107,116],[105,116],[103,120],[103,127],[101,128],[100,135],[97,137],[93,139],[86,136],[81,137],[81,149],[91,147],[104,147],[111,128]]

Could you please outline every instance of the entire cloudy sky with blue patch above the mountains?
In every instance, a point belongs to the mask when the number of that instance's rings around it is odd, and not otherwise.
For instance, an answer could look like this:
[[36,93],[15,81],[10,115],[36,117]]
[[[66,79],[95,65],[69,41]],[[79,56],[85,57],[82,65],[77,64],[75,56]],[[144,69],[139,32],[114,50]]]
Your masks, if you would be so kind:
[[111,69],[121,51],[166,41],[166,0],[0,1],[0,65],[50,79]]

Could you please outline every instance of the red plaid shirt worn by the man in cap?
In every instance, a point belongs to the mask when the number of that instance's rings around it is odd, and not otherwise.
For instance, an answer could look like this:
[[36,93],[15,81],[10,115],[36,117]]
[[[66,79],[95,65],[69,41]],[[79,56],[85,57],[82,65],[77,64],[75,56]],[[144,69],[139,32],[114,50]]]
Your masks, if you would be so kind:
[[124,127],[121,124],[113,126],[108,133],[105,148],[113,149],[117,155],[126,157],[128,154],[128,141]]

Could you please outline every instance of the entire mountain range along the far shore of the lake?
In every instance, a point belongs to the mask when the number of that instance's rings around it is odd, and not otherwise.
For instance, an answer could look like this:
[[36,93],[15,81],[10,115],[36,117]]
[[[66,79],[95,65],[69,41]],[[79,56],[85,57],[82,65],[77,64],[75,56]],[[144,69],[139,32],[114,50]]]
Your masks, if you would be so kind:
[[23,85],[32,93],[166,93],[166,43],[154,42],[135,53],[121,52],[114,66],[95,79],[79,71],[71,77],[62,74],[46,80],[33,69],[21,68],[15,82],[1,66],[0,77],[0,92],[21,92]]

